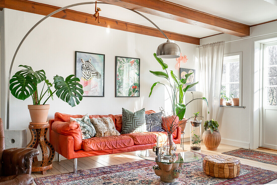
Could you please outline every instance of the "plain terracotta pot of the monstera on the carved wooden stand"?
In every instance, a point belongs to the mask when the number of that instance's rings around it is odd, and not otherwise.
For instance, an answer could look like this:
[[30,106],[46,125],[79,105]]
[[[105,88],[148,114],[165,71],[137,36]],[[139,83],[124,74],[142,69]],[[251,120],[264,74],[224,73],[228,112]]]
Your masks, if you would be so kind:
[[35,123],[45,123],[47,121],[49,108],[50,105],[28,105],[32,124],[38,125]]

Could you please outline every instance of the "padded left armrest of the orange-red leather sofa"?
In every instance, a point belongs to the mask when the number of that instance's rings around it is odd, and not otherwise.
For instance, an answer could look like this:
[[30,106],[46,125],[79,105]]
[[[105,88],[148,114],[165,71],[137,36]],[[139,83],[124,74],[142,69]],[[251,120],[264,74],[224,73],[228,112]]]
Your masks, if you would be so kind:
[[82,133],[80,125],[76,121],[61,122],[55,121],[52,123],[52,130],[58,134],[68,135],[73,137],[74,150],[82,149]]

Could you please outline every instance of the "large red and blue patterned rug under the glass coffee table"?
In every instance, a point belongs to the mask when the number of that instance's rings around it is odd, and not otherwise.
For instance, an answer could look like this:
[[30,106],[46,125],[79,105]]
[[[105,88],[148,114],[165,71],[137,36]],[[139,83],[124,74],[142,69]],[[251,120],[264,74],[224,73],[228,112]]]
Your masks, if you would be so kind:
[[164,183],[156,176],[152,166],[156,163],[142,160],[131,163],[117,164],[78,170],[78,173],[65,173],[35,179],[37,185],[250,185],[265,184],[277,179],[277,172],[241,165],[240,175],[234,179],[219,179],[203,173],[202,159],[185,164],[185,171],[174,183]]

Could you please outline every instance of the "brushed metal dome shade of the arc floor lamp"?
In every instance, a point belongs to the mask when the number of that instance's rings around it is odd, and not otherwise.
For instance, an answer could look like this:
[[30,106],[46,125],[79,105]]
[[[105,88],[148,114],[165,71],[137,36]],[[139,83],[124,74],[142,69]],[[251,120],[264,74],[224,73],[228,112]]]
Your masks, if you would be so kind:
[[180,57],[181,50],[177,44],[167,40],[158,46],[156,54],[158,58],[175,59]]

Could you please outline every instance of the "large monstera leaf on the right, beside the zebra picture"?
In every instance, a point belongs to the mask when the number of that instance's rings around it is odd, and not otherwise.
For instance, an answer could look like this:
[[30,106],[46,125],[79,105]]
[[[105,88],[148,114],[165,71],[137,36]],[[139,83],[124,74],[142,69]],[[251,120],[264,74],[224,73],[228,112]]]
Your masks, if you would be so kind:
[[71,107],[76,106],[75,102],[78,105],[83,99],[83,86],[78,82],[80,82],[80,79],[75,75],[69,75],[65,80],[58,75],[54,77],[57,97],[71,105]]

